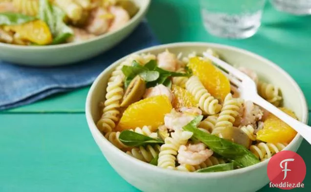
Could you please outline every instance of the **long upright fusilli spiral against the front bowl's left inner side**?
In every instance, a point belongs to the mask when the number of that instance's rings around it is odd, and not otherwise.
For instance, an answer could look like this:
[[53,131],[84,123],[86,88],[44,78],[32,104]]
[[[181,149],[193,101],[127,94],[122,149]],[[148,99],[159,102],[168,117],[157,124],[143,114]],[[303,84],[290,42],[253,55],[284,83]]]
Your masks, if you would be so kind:
[[[113,79],[113,81],[111,81]],[[111,76],[108,86],[103,115],[97,122],[97,128],[104,132],[111,132],[115,128],[115,122],[119,120],[120,101],[123,97],[123,83],[120,76]]]

